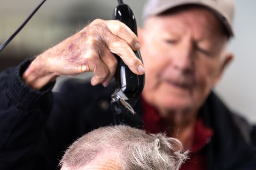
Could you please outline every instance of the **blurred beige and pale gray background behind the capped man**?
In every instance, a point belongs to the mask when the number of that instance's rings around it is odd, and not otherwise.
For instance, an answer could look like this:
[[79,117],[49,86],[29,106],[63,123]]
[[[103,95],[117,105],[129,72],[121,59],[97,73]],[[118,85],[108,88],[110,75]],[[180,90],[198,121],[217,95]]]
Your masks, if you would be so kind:
[[[0,44],[2,44],[41,0],[0,1]],[[145,0],[124,0],[142,26]],[[256,0],[235,0],[236,37],[229,51],[235,54],[223,80],[215,89],[231,109],[256,123]],[[0,53],[0,71],[43,52],[76,33],[96,18],[111,19],[116,0],[47,0],[20,34]],[[90,76],[90,74],[89,74]],[[80,75],[84,79],[86,75]],[[63,82],[62,77],[58,84]],[[58,87],[55,88],[58,90]]]

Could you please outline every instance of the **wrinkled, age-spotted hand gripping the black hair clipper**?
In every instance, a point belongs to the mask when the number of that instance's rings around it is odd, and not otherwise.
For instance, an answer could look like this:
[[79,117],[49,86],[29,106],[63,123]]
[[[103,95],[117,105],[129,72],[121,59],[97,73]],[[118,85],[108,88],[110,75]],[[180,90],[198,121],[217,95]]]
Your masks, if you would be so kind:
[[58,76],[93,71],[92,85],[107,86],[113,78],[117,54],[134,74],[144,74],[143,63],[133,50],[139,50],[137,36],[116,20],[94,20],[84,29],[40,54],[23,74],[24,82],[41,89]]

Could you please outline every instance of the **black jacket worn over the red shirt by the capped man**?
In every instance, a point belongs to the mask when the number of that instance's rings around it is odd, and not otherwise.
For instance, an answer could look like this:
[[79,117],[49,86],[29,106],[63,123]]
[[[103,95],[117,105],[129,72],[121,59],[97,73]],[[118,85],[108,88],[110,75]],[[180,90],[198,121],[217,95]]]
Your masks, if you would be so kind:
[[[113,85],[81,80],[34,91],[20,75],[30,61],[0,74],[0,170],[54,170],[64,150],[83,134],[113,124]],[[135,111],[143,113],[140,102]],[[236,116],[211,93],[201,108],[214,130],[207,150],[209,170],[256,170],[256,127]]]

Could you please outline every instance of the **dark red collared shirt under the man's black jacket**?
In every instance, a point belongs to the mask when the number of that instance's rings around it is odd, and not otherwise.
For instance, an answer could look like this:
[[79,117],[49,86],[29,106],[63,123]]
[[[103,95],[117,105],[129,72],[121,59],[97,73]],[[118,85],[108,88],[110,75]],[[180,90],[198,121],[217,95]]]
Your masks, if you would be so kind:
[[[157,110],[142,99],[144,129],[149,133],[164,132],[166,127],[161,123]],[[194,141],[189,150],[189,159],[181,166],[180,170],[207,170],[207,155],[204,147],[210,142],[213,130],[204,125],[201,117],[195,124]]]

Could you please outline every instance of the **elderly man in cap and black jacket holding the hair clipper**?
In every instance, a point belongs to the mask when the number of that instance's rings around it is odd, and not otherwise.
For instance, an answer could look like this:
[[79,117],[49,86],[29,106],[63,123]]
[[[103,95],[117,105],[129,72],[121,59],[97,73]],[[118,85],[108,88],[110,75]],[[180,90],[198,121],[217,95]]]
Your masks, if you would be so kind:
[[[139,38],[118,21],[95,20],[6,70],[0,77],[0,167],[55,169],[74,139],[111,125],[114,53],[135,74],[146,73],[135,111],[145,130],[166,132],[190,150],[182,170],[254,169],[256,128],[211,91],[233,59],[226,53],[232,18],[233,0],[150,0]],[[139,48],[144,65],[133,53]],[[56,77],[86,71],[93,71],[96,86],[70,81],[51,93]]]

